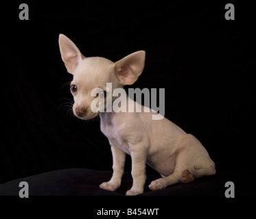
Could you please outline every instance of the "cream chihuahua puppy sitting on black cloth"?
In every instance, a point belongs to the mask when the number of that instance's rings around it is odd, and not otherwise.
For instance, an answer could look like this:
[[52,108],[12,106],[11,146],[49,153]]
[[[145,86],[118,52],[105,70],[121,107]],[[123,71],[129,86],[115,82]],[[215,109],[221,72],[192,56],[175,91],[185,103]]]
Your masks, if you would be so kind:
[[[73,75],[73,114],[84,120],[100,114],[100,128],[111,146],[113,176],[100,188],[110,191],[119,188],[126,153],[132,158],[133,179],[132,188],[126,195],[143,192],[146,164],[161,175],[150,183],[150,190],[160,190],[178,182],[189,183],[196,177],[216,173],[215,164],[204,146],[167,118],[152,120],[152,114],[156,112],[125,112],[124,109],[107,112],[106,107],[103,112],[95,112],[92,109],[95,98],[106,101],[112,95],[109,91],[110,94],[107,93],[106,83],[112,83],[112,90],[115,90],[137,81],[144,68],[145,51],[137,51],[114,63],[104,57],[84,57],[78,47],[62,34],[59,46],[67,71]],[[100,92],[91,95],[95,88]],[[127,95],[126,101],[131,102]],[[132,102],[135,108],[139,104]]]

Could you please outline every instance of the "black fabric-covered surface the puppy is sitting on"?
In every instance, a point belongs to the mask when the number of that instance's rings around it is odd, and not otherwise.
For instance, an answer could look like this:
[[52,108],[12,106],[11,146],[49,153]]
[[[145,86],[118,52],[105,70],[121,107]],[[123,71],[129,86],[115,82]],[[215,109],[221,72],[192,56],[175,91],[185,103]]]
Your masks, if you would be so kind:
[[[151,181],[158,179],[158,174],[148,175],[143,194],[139,196],[220,196],[224,197],[227,181],[235,184],[235,196],[254,196],[253,178],[243,179],[244,175],[255,175],[255,172],[220,172],[217,175],[202,177],[192,183],[178,183],[163,190],[151,191],[148,188]],[[108,181],[111,171],[88,169],[65,169],[45,172],[32,177],[18,179],[0,185],[0,196],[18,196],[19,183],[26,181],[29,185],[30,196],[120,196],[132,187],[130,172],[125,172],[121,186],[115,191],[102,190],[100,183]]]

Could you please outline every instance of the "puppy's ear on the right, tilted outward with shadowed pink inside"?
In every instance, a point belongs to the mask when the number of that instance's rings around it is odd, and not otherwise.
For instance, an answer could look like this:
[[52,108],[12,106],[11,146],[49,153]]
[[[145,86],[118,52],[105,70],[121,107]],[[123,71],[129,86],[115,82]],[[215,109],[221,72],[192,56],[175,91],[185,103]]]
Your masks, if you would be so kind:
[[119,83],[130,85],[137,81],[145,64],[145,51],[137,51],[115,62],[115,77]]

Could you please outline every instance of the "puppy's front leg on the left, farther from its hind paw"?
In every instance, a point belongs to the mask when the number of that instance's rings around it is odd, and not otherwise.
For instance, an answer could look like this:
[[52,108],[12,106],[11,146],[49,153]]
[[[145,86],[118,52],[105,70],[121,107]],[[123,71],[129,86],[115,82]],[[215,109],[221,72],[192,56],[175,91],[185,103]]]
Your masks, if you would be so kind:
[[100,184],[100,188],[115,191],[121,184],[121,177],[124,173],[124,162],[126,161],[126,153],[121,151],[117,146],[111,143],[110,145],[113,156],[113,175],[110,181]]

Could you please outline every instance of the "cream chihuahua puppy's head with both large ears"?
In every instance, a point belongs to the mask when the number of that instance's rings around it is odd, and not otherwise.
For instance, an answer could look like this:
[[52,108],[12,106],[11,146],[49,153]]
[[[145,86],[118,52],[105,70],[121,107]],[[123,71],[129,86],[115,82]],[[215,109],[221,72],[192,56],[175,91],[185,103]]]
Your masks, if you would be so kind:
[[[67,71],[73,75],[70,90],[74,98],[73,113],[78,118],[97,116],[99,110],[92,109],[92,101],[97,99],[95,106],[105,103],[112,90],[135,83],[144,68],[145,51],[137,51],[114,63],[104,57],[84,57],[63,34],[59,36],[59,46]],[[112,83],[111,91],[106,88],[107,83]]]

